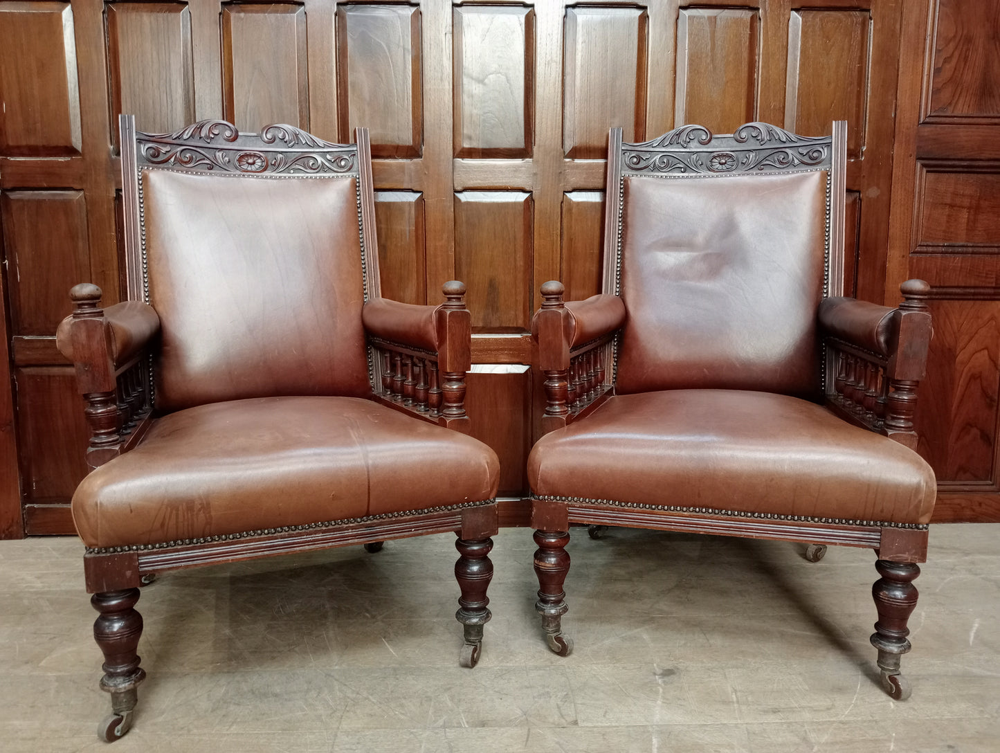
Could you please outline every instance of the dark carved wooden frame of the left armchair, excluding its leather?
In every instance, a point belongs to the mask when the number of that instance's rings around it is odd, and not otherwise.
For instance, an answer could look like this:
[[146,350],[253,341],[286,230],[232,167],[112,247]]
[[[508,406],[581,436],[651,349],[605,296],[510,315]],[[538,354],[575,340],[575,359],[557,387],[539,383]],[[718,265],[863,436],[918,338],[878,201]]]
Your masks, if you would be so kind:
[[[120,118],[122,144],[126,298],[149,303],[146,250],[140,224],[140,171],[168,167],[210,173],[278,173],[299,176],[348,175],[358,180],[365,301],[379,295],[375,207],[367,129],[355,132],[356,144],[333,144],[289,125],[270,125],[260,134],[239,133],[230,123],[201,121],[172,134],[135,130],[133,116]],[[445,302],[436,314],[439,349],[431,352],[405,342],[369,336],[370,398],[414,419],[469,433],[465,412],[465,374],[469,370],[471,318],[465,308],[465,285],[443,286]],[[153,351],[157,333],[124,360],[112,347],[114,307],[101,306],[101,290],[91,284],[71,291],[74,308],[70,337],[77,387],[85,402],[90,430],[87,465],[93,470],[131,450],[155,418]],[[360,314],[359,314],[360,315]],[[442,483],[445,483],[442,481]],[[457,503],[405,513],[318,522],[204,539],[161,544],[87,549],[84,574],[91,603],[100,613],[94,638],[104,654],[100,687],[111,694],[112,714],[98,730],[115,740],[132,723],[136,688],[145,678],[136,653],[142,617],[135,610],[139,587],[158,573],[364,544],[371,552],[382,542],[432,533],[455,532],[459,559],[455,575],[461,590],[456,618],[463,625],[459,661],[473,667],[479,659],[483,626],[490,619],[487,587],[493,575],[489,559],[497,532],[495,500]]]

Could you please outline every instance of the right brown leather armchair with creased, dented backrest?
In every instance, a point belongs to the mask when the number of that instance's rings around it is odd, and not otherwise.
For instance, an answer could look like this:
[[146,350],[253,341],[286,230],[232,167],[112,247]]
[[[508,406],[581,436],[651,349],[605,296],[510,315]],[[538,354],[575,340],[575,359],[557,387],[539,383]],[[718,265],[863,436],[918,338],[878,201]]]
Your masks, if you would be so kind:
[[882,684],[896,699],[935,500],[913,448],[931,336],[919,280],[899,308],[842,297],[846,124],[611,132],[603,293],[542,286],[544,436],[528,477],[537,609],[568,654],[573,523],[868,547]]

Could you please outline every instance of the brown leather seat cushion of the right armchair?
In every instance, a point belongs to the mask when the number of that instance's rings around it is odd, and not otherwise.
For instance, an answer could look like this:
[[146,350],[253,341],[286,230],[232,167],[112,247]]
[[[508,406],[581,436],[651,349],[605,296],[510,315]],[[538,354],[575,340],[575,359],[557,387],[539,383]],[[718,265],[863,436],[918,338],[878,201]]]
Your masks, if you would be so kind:
[[927,523],[934,472],[814,403],[730,390],[611,398],[528,458],[540,497]]

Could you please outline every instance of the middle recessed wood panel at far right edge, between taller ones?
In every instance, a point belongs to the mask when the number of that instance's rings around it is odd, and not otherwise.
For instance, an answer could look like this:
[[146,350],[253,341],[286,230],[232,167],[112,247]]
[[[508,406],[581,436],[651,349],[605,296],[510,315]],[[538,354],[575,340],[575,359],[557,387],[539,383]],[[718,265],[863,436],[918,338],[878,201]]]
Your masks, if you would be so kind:
[[917,206],[918,247],[1000,250],[1000,173],[924,172]]

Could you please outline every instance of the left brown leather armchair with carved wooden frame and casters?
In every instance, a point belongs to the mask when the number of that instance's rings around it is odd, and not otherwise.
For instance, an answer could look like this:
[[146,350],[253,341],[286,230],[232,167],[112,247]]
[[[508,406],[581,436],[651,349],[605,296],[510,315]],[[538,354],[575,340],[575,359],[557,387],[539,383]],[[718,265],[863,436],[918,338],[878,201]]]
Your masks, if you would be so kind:
[[467,436],[465,286],[440,306],[379,296],[367,132],[120,125],[128,300],[77,285],[57,337],[91,429],[72,508],[100,736],[128,731],[145,677],[139,586],[184,567],[454,531],[474,666],[499,461]]

